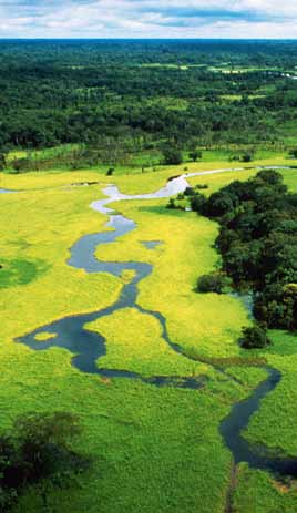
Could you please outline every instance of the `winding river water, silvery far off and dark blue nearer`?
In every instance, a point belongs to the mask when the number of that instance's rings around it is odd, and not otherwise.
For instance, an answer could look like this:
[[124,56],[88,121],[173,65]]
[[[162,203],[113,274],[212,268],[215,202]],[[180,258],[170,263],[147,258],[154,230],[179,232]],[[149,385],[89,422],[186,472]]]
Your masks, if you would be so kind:
[[[268,168],[272,168],[269,166]],[[277,167],[275,167],[277,168]],[[284,168],[284,166],[281,166]],[[236,171],[242,171],[237,168]],[[171,179],[163,188],[153,194],[144,195],[125,195],[122,194],[114,185],[104,188],[106,198],[93,202],[91,207],[101,214],[109,216],[106,228],[98,234],[85,235],[81,237],[71,248],[71,256],[68,264],[78,269],[84,269],[86,273],[109,273],[113,276],[121,276],[124,270],[133,270],[134,277],[123,286],[119,299],[111,306],[91,314],[81,314],[64,317],[39,327],[34,331],[17,339],[18,343],[37,350],[47,350],[51,347],[61,347],[73,353],[72,365],[81,372],[100,375],[110,378],[125,378],[141,380],[156,387],[170,386],[182,387],[191,390],[199,389],[207,386],[207,377],[180,377],[180,376],[153,376],[151,378],[142,377],[135,372],[122,369],[104,369],[100,367],[100,358],[106,355],[106,341],[104,337],[84,326],[102,317],[110,316],[123,308],[135,308],[140,312],[153,316],[162,327],[162,337],[166,343],[176,351],[181,358],[190,358],[184,355],[183,349],[174,343],[167,332],[166,319],[158,311],[152,311],[142,308],[137,304],[139,284],[151,275],[153,266],[139,261],[104,261],[95,257],[98,246],[113,244],[119,237],[136,229],[136,225],[121,214],[115,213],[109,207],[110,203],[129,201],[129,199],[152,199],[174,196],[185,191],[188,186],[187,177],[223,173],[229,170],[215,170],[209,172],[188,173]],[[186,214],[185,214],[186,215]],[[110,230],[112,228],[112,230]],[[48,339],[40,341],[40,336],[48,335]],[[195,359],[196,361],[196,359]],[[214,368],[222,371],[215,362]],[[272,454],[265,447],[256,447],[243,438],[243,431],[247,428],[250,417],[259,409],[260,401],[270,393],[279,383],[281,375],[277,369],[265,367],[267,379],[263,381],[246,400],[233,406],[229,414],[222,421],[219,432],[226,447],[233,454],[234,463],[242,461],[247,462],[255,469],[272,471],[280,475],[297,475],[297,460],[293,458],[283,458]]]

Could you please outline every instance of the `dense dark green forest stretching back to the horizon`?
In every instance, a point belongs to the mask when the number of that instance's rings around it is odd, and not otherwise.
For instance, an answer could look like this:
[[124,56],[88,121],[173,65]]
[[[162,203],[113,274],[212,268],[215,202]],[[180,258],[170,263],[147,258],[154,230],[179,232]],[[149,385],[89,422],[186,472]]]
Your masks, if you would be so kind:
[[289,147],[295,75],[289,41],[1,41],[0,147]]

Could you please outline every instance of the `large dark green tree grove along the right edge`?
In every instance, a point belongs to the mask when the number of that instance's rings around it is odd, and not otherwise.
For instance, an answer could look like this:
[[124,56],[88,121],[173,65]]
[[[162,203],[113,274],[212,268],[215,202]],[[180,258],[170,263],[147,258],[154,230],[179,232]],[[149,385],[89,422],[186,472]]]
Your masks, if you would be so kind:
[[[219,223],[216,247],[223,271],[238,290],[253,290],[254,314],[269,328],[297,328],[297,194],[280,173],[260,171],[206,198],[193,209]],[[221,278],[219,278],[221,279]]]

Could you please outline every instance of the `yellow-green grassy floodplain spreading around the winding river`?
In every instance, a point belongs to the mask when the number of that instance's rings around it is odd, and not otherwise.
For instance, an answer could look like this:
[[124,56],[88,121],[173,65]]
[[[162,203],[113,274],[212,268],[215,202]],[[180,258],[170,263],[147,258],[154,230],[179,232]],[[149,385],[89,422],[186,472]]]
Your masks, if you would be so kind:
[[[288,162],[279,156],[258,163]],[[194,172],[233,165],[222,160],[187,167]],[[154,266],[152,275],[140,284],[139,305],[160,311],[166,318],[171,339],[205,362],[174,352],[161,337],[157,320],[135,309],[117,311],[88,326],[106,339],[106,356],[100,366],[144,377],[205,377],[201,390],[156,388],[137,380],[81,373],[72,367],[65,349],[34,352],[13,342],[16,337],[50,321],[113,304],[123,284],[132,278],[129,273],[121,278],[88,275],[66,265],[75,240],[105,229],[106,217],[89,208],[91,202],[103,197],[102,187],[112,182],[124,193],[148,193],[183,168],[160,167],[156,172],[112,177],[100,170],[1,175],[1,187],[24,192],[0,196],[0,428],[10,429],[13,419],[27,411],[72,411],[83,425],[75,444],[94,456],[94,464],[80,476],[79,485],[51,494],[50,505],[59,513],[225,512],[232,459],[219,435],[219,422],[232,404],[252,393],[265,371],[236,366],[236,358],[246,358],[237,338],[242,326],[250,322],[243,304],[228,296],[194,290],[197,277],[219,265],[213,247],[218,229],[215,223],[194,213],[170,211],[166,199],[122,202],[115,207],[135,220],[137,229],[96,250],[100,259],[132,259]],[[209,194],[255,172],[225,172],[190,182],[207,184]],[[283,173],[290,189],[296,191],[297,171]],[[69,186],[86,181],[100,184]],[[143,240],[162,244],[150,250],[141,244]],[[284,379],[264,400],[246,437],[296,456],[296,337],[280,331],[272,336],[274,346],[252,356],[265,357],[281,370]],[[39,338],[40,345],[44,339],[47,336]],[[234,363],[221,373],[212,366],[216,358],[234,358]],[[281,488],[266,472],[245,464],[238,470],[234,501],[235,513],[297,511],[294,483]],[[14,509],[14,513],[40,511],[41,499],[34,489]]]

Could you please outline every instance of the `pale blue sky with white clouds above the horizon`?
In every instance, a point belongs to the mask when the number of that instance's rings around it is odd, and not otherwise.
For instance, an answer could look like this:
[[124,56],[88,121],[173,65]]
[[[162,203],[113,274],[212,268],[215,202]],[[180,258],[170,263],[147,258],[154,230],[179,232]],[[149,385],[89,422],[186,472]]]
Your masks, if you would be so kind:
[[297,38],[297,0],[0,0],[0,38]]

